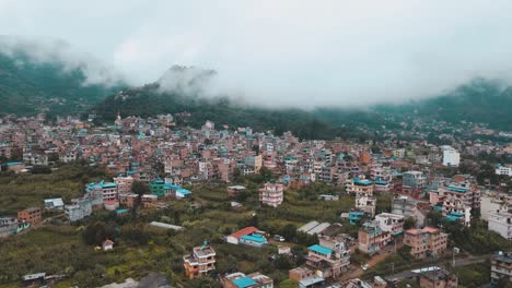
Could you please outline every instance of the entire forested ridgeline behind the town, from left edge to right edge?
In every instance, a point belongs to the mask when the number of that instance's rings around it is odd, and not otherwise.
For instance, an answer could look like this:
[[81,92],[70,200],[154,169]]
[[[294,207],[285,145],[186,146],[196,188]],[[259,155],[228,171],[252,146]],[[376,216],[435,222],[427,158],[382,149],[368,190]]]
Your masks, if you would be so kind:
[[96,121],[110,122],[117,111],[123,117],[186,111],[190,117],[178,118],[178,124],[199,128],[211,120],[277,134],[292,131],[301,139],[365,137],[366,132],[383,125],[400,129],[399,123],[411,118],[481,122],[512,131],[512,88],[496,81],[475,80],[445,95],[403,105],[302,110],[241,106],[229,97],[203,97],[202,83],[216,74],[212,70],[173,67],[154,83],[121,89],[126,85],[84,85],[82,69],[70,70],[58,61],[33,61],[23,50],[10,56],[0,52],[0,113],[91,112],[97,116]]

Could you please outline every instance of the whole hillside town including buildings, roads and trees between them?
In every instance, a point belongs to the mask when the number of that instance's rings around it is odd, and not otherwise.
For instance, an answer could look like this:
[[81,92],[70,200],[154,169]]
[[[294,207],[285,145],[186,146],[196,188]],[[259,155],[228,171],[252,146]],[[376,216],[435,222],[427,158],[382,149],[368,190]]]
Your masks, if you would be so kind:
[[[174,236],[195,229],[194,223],[202,216],[184,221],[178,216],[151,215],[159,211],[177,215],[174,211],[179,207],[202,213],[229,209],[233,215],[251,213],[253,220],[225,228],[220,240],[213,240],[219,237],[217,230],[187,243],[194,247],[178,255],[181,263],[172,271],[177,276],[170,280],[171,275],[160,275],[168,281],[165,287],[191,287],[206,278],[213,283],[208,285],[230,288],[457,287],[466,280],[459,278],[465,265],[484,262],[490,265],[485,277],[493,287],[512,280],[512,251],[500,245],[512,240],[510,141],[442,134],[435,144],[427,136],[404,140],[399,134],[381,140],[307,141],[291,132],[275,135],[211,121],[200,129],[179,127],[175,117],[186,113],[148,119],[118,116],[109,125],[74,117],[48,121],[45,115],[1,118],[3,176],[51,175],[74,164],[105,171],[82,181],[74,197],[46,191],[48,197],[15,213],[0,207],[1,241],[27,237],[46,226],[89,229],[91,219],[102,213],[125,217],[125,223],[132,219],[128,217],[144,217],[148,226]],[[490,133],[476,124],[472,131]],[[256,177],[265,178],[251,182]],[[211,187],[222,188],[225,203],[212,204],[217,192],[199,192]],[[316,193],[318,187],[322,193]],[[299,202],[300,193],[318,209],[323,205],[334,209],[325,209],[325,218],[303,214],[281,219],[281,213],[292,213],[290,205]],[[289,225],[270,225],[272,231],[267,230],[258,227],[257,214]],[[119,229],[123,233],[124,228]],[[464,237],[476,237],[474,231],[491,235],[500,244],[489,242],[488,248],[496,250],[484,253],[464,247]],[[125,245],[109,237],[96,240],[91,250],[104,253]],[[270,259],[258,261],[261,265],[286,262],[284,273],[274,279],[263,271],[219,271],[218,262],[225,261],[221,257],[226,253],[216,251],[223,245],[271,250]],[[233,255],[230,261],[244,260]],[[162,273],[158,267],[150,272]],[[30,269],[20,276],[3,280],[42,287],[70,277],[61,271]],[[104,287],[139,287],[137,280],[126,278]]]

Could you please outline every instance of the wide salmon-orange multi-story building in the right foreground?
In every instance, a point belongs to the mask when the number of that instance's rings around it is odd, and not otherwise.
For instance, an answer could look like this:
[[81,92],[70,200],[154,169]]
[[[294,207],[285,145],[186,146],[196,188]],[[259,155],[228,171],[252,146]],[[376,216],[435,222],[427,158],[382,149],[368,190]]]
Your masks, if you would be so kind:
[[438,228],[409,229],[405,231],[404,244],[410,247],[415,259],[424,259],[429,254],[442,254],[447,247],[447,235]]

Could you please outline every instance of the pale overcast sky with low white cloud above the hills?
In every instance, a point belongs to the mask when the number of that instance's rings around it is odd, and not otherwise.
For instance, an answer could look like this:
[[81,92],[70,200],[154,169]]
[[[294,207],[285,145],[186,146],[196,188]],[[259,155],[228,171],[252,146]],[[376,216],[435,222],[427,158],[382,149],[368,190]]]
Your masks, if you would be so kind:
[[0,35],[56,38],[152,82],[173,64],[266,105],[347,106],[512,80],[512,1],[0,0]]

